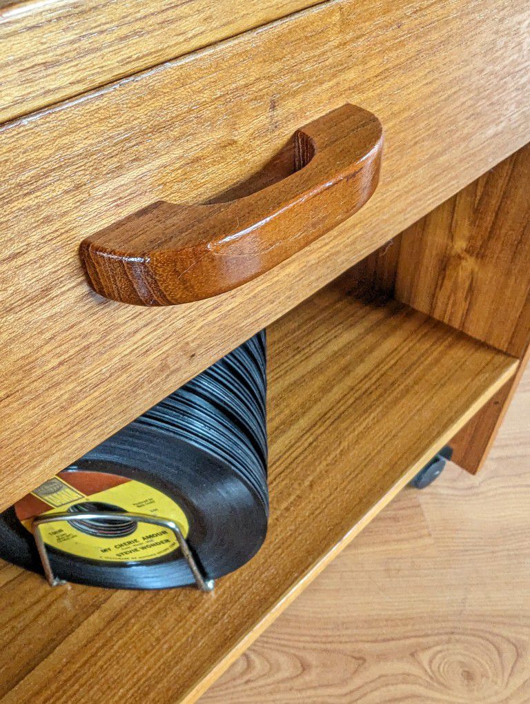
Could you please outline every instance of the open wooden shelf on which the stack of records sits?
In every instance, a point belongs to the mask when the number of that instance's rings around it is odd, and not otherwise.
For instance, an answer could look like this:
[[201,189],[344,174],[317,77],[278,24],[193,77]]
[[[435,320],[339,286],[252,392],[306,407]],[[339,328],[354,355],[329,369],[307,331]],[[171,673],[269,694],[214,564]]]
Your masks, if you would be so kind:
[[3,704],[194,700],[515,370],[422,313],[340,286],[268,337],[261,551],[208,595],[50,590],[4,566]]

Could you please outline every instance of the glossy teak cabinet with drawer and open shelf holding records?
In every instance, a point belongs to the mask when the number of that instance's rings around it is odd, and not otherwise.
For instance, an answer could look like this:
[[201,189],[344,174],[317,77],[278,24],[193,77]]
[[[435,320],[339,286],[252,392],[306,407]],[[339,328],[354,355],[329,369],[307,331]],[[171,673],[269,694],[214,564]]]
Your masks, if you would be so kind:
[[[0,4],[1,508],[263,327],[272,506],[209,595],[3,563],[1,702],[195,700],[441,446],[479,469],[530,340],[529,20],[499,0]],[[379,184],[359,153],[362,208],[311,210],[343,172],[300,196],[296,135],[347,105],[381,122]],[[164,201],[215,230],[246,199],[281,252],[242,249],[263,257],[235,286],[205,269],[208,297],[159,307],[89,286],[82,241],[134,258],[116,223]],[[286,246],[267,218],[295,201]]]

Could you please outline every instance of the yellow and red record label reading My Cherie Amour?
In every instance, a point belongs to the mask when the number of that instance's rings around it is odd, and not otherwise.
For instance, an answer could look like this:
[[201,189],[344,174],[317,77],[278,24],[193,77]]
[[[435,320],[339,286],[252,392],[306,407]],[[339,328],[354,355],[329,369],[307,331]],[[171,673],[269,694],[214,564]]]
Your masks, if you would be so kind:
[[127,517],[119,521],[84,518],[83,514],[94,511],[168,518],[177,523],[184,537],[189,531],[184,511],[172,498],[144,482],[106,472],[64,470],[15,504],[15,512],[28,530],[37,516],[78,515],[74,522],[42,524],[41,531],[46,545],[80,558],[139,562],[162,558],[179,547],[168,528]]

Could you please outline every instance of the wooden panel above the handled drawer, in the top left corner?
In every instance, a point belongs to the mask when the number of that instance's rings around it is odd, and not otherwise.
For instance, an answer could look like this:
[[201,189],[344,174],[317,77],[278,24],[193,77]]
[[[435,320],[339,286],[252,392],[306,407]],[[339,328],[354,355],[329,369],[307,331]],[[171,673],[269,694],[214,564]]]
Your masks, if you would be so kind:
[[0,121],[188,54],[317,0],[4,0]]

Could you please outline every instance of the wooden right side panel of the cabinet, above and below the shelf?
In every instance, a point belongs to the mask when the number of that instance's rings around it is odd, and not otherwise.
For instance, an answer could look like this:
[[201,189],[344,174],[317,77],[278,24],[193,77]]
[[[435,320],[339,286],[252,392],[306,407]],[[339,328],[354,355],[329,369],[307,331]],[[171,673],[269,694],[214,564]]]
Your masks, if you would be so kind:
[[[530,145],[370,256],[362,274],[413,308],[524,358],[530,342],[529,184]],[[484,462],[517,378],[453,440],[455,461],[466,469],[476,472]]]

